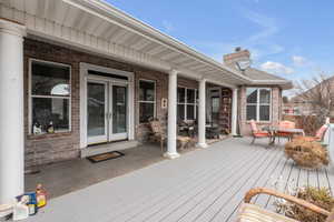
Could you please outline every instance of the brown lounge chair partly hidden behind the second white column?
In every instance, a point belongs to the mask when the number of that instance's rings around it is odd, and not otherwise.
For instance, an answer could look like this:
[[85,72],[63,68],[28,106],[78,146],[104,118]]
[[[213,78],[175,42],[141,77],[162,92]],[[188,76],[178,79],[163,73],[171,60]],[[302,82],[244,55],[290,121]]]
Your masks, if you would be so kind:
[[[161,123],[158,119],[151,119],[149,120],[149,125],[151,129],[151,135],[150,135],[150,140],[153,141],[157,141],[160,142],[160,149],[161,152],[164,152],[164,144],[167,140],[167,135],[165,130],[161,127]],[[185,149],[187,145],[189,145],[191,142],[191,138],[189,137],[177,137],[177,144],[179,147],[179,149]]]

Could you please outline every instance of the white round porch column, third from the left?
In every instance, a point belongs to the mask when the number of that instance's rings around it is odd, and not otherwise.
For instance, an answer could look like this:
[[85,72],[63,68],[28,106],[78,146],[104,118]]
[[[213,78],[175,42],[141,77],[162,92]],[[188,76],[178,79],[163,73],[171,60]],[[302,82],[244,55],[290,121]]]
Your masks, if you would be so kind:
[[205,125],[206,125],[206,80],[199,81],[199,103],[198,103],[198,143],[200,148],[206,148]]

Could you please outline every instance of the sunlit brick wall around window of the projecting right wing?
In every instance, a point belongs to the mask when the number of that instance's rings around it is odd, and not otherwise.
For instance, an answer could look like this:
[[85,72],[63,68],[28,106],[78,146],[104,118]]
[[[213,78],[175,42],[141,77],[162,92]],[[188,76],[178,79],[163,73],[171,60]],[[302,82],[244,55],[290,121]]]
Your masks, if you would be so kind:
[[[252,85],[253,87],[253,85]],[[265,85],[261,85],[262,88]],[[246,121],[246,88],[240,87],[239,89],[239,125],[240,125],[240,133],[243,135],[250,135],[250,127],[249,123]],[[271,87],[268,87],[271,88]],[[272,88],[272,120],[271,122],[257,122],[259,128],[264,125],[269,125],[273,123],[277,123],[281,120],[281,109],[282,109],[282,90],[278,87]]]

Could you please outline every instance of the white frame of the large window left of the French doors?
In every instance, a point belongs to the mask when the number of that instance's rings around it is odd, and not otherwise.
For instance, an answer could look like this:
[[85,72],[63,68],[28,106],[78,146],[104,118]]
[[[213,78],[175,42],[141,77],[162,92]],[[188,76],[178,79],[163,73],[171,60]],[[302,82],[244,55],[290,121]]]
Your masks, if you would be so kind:
[[[31,92],[31,83],[32,83],[32,62],[40,62],[40,63],[46,63],[46,64],[55,64],[59,67],[67,67],[69,68],[69,89],[70,89],[70,94],[69,97],[55,97],[55,95],[32,95]],[[55,130],[55,133],[62,133],[62,132],[71,132],[72,130],[72,68],[69,64],[65,63],[59,63],[59,62],[51,62],[51,61],[46,61],[46,60],[40,60],[40,59],[29,59],[29,71],[28,71],[28,134],[32,135],[33,133],[31,132],[32,129],[32,98],[49,98],[49,99],[67,99],[69,101],[69,129],[68,130]],[[43,135],[47,133],[41,133],[37,134],[38,135]],[[33,134],[36,135],[36,134]]]

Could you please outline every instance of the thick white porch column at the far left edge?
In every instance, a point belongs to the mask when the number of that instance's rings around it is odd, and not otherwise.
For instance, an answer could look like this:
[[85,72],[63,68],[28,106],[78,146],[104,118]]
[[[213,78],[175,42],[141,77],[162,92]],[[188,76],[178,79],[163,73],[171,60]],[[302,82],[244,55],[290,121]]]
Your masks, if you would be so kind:
[[24,27],[0,19],[0,204],[23,193]]

